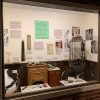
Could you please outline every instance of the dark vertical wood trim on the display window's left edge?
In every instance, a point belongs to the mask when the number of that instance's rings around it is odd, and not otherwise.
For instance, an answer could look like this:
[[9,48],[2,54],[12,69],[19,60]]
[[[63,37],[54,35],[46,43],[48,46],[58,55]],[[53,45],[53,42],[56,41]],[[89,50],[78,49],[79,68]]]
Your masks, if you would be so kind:
[[3,14],[2,0],[0,0],[0,100],[4,98],[4,63],[3,63]]

